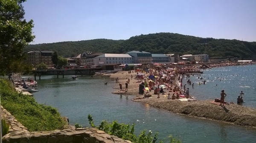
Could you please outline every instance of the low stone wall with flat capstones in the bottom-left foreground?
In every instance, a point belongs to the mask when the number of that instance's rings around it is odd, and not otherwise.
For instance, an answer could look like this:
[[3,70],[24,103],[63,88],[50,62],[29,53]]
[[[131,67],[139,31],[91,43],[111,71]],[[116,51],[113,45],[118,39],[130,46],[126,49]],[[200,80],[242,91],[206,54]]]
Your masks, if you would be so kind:
[[2,138],[3,143],[131,143],[96,128],[29,132],[3,107],[1,107],[1,118],[5,118],[10,124],[9,133]]

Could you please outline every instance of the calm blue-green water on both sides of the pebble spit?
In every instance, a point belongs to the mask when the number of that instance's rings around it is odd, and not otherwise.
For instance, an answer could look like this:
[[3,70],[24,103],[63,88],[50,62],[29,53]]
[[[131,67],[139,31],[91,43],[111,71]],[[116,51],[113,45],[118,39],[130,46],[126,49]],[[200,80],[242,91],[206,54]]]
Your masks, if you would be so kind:
[[[246,101],[243,106],[256,108],[256,65],[214,68],[201,76],[205,77],[206,84],[195,84],[194,89],[187,85],[190,87],[190,94],[197,99],[220,98],[220,91],[224,89],[227,93],[226,101],[236,102],[242,90]],[[200,80],[197,77],[191,76],[190,79],[198,82]],[[70,124],[89,126],[87,115],[90,114],[96,125],[102,120],[135,123],[137,133],[143,129],[151,130],[159,132],[160,139],[173,135],[183,140],[183,143],[256,142],[256,129],[155,109],[147,104],[131,101],[133,96],[126,98],[125,95],[111,94],[116,83],[109,78],[78,78],[70,80],[71,76],[64,79],[56,79],[56,76],[42,77],[42,80],[38,80],[39,92],[34,93],[35,100],[40,104],[56,107],[62,116],[70,119]],[[222,78],[221,81],[218,78]]]

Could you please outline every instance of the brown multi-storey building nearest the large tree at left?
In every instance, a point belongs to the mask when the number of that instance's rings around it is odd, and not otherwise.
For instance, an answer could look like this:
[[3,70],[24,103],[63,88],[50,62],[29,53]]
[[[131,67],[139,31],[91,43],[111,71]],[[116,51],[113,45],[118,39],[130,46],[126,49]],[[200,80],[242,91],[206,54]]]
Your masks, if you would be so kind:
[[28,64],[32,64],[34,67],[41,63],[44,63],[47,66],[52,66],[52,53],[54,53],[53,51],[32,50],[26,53],[28,54]]

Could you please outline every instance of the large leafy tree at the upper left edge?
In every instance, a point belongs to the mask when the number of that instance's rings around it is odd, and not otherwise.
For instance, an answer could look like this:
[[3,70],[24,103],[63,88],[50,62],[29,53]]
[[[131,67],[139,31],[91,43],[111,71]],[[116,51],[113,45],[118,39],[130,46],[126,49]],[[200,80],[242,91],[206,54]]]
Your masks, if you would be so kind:
[[33,21],[24,19],[24,1],[0,0],[0,75],[13,71],[12,63],[21,60],[23,48],[35,38]]

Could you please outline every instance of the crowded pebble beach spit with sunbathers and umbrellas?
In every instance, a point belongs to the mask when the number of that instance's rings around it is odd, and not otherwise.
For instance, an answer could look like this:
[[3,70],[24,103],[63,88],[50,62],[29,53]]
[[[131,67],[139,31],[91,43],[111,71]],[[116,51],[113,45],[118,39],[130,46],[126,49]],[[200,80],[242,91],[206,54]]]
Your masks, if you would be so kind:
[[[243,63],[255,64],[255,63]],[[233,63],[210,64],[208,67],[232,66]],[[180,115],[222,121],[241,126],[256,127],[256,109],[240,106],[234,102],[221,104],[221,99],[200,101],[196,95],[189,94],[189,74],[180,73],[184,68],[202,66],[167,67],[156,65],[148,70],[119,71],[112,73],[116,81],[112,93],[134,95],[132,101],[149,104],[151,107],[164,109]],[[183,70],[184,71],[184,70]],[[186,83],[184,82],[186,79]],[[204,81],[201,83],[204,84]],[[193,84],[191,85],[193,86]],[[220,91],[221,93],[221,91]],[[223,92],[224,93],[224,92]]]

